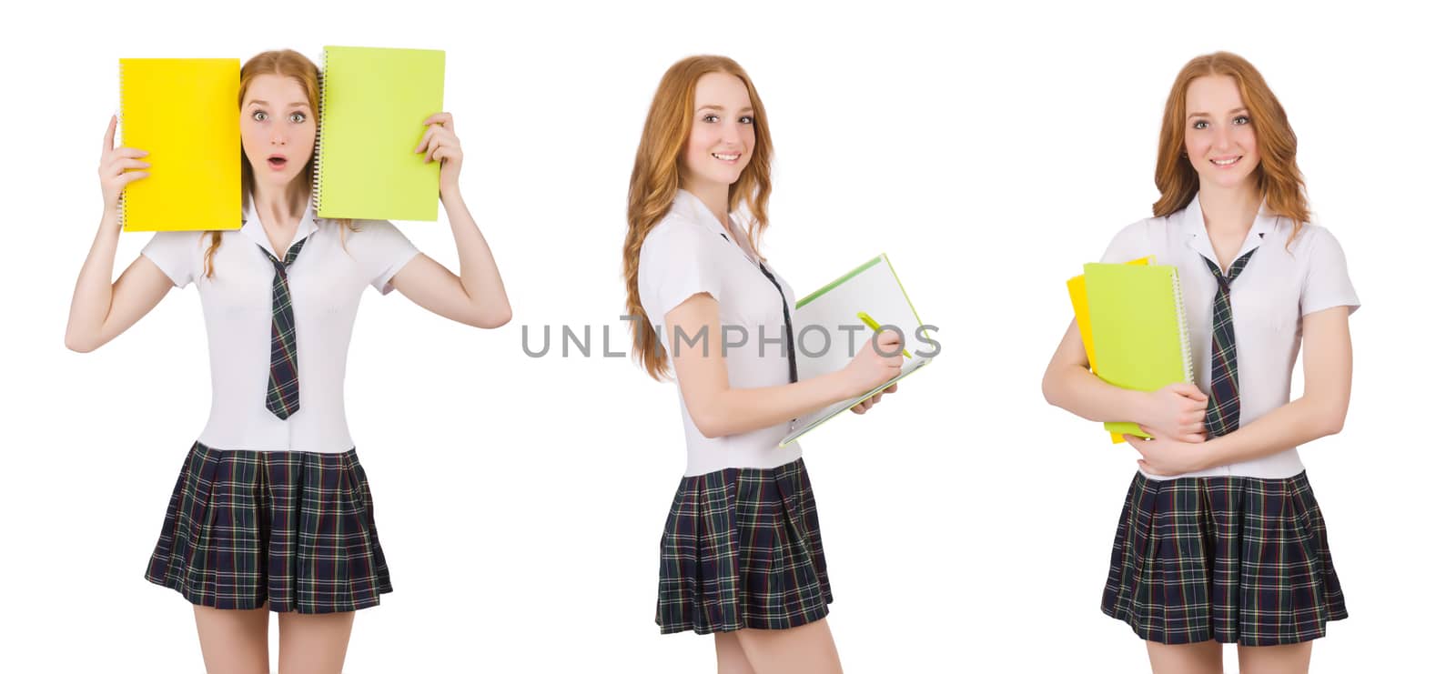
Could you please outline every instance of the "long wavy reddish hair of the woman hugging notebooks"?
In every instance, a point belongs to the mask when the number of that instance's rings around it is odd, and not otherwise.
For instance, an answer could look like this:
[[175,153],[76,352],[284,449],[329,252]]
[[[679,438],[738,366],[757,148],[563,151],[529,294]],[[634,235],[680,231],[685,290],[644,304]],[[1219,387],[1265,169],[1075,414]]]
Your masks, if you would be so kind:
[[1184,153],[1185,118],[1188,115],[1188,87],[1192,80],[1207,76],[1229,76],[1239,87],[1239,96],[1249,109],[1254,122],[1254,143],[1259,150],[1259,164],[1254,169],[1259,195],[1270,213],[1294,223],[1289,240],[1309,223],[1309,201],[1305,197],[1305,178],[1294,163],[1297,141],[1294,130],[1284,115],[1284,106],[1264,83],[1264,76],[1249,61],[1236,54],[1219,51],[1188,61],[1178,71],[1174,87],[1168,92],[1163,106],[1163,128],[1158,138],[1158,169],[1153,182],[1162,197],[1153,202],[1153,215],[1165,217],[1178,213],[1192,202],[1198,194],[1198,172]]

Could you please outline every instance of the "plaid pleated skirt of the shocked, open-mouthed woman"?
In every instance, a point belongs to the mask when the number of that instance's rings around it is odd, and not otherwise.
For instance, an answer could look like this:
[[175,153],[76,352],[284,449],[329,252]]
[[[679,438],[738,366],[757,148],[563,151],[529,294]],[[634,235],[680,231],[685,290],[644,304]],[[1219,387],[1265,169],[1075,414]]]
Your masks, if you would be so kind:
[[214,608],[354,611],[392,591],[354,450],[192,445],[147,579]]

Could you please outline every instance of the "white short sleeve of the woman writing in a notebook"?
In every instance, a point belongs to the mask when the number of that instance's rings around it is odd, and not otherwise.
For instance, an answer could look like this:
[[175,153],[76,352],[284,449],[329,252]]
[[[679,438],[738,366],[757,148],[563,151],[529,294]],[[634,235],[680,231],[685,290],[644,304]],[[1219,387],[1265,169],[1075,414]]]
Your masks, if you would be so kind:
[[[696,223],[671,217],[648,233],[638,258],[638,293],[644,304],[651,300],[651,319],[662,320],[697,293],[721,298],[722,285],[709,243],[711,239]],[[658,316],[652,316],[654,312]]]

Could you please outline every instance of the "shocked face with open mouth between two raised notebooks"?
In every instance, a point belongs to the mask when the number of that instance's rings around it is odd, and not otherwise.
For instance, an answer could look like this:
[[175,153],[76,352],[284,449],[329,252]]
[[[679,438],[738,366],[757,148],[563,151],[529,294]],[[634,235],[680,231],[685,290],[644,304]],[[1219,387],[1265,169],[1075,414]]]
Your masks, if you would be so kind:
[[313,156],[319,125],[309,93],[291,77],[255,77],[243,93],[239,124],[255,185],[285,188]]

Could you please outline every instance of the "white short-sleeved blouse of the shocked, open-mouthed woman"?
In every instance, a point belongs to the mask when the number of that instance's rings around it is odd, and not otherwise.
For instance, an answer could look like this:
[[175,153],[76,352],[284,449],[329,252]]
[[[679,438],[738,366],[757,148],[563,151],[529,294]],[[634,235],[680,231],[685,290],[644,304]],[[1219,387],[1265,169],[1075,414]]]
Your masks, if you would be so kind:
[[[272,258],[264,224],[249,205],[240,230],[224,231],[202,275],[211,236],[159,231],[141,255],[176,287],[195,282],[213,365],[213,411],[198,441],[220,450],[320,451],[354,448],[344,419],[344,362],[365,285],[380,294],[416,253],[390,223],[354,221],[358,231],[303,214],[293,243],[309,237],[288,266],[298,352],[298,411],[280,419],[265,405],[272,339]],[[264,250],[266,250],[266,253]]]

